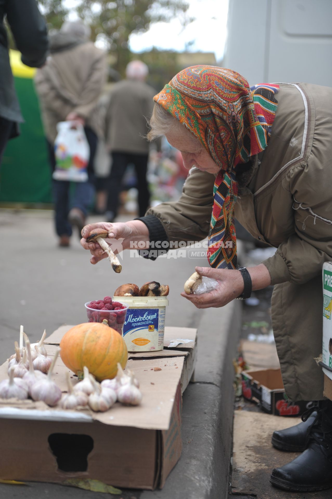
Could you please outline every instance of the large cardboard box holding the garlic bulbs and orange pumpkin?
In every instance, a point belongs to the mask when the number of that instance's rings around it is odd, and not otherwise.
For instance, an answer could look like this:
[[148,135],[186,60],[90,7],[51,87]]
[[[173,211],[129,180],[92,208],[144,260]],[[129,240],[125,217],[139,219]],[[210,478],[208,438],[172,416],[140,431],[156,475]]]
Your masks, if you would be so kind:
[[[70,327],[62,326],[48,338],[49,356],[54,355],[64,328]],[[94,413],[89,408],[49,408],[32,400],[0,400],[1,478],[65,484],[75,477],[120,488],[162,488],[181,455],[181,380],[184,386],[189,377],[185,371],[194,367],[188,360],[196,355],[196,330],[174,329],[173,338],[192,334],[186,344],[191,353],[166,350],[164,356],[135,354],[128,360],[143,395],[138,407],[116,403],[104,413]],[[67,371],[58,357],[53,379],[62,391]],[[0,381],[6,377],[7,362],[0,367]]]

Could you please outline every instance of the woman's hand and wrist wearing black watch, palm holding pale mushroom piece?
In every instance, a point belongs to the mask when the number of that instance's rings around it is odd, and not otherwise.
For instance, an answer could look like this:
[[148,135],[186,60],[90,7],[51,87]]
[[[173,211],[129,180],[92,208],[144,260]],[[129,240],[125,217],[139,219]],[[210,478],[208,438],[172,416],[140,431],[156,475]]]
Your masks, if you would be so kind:
[[[242,294],[244,289],[243,277],[240,270],[228,268],[196,267],[196,272],[202,276],[216,279],[218,287],[209,293],[187,294],[181,296],[191,301],[197,308],[223,307]],[[253,291],[263,289],[271,284],[271,276],[267,267],[260,263],[256,267],[248,268],[252,280]]]

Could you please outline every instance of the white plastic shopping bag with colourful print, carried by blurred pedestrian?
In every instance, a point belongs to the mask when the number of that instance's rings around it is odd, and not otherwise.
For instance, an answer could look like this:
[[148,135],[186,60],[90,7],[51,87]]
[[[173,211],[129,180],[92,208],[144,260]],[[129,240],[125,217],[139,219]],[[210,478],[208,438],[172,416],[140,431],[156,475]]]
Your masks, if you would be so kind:
[[61,121],[56,125],[57,136],[54,141],[56,167],[55,180],[86,182],[90,147],[84,128],[77,121]]

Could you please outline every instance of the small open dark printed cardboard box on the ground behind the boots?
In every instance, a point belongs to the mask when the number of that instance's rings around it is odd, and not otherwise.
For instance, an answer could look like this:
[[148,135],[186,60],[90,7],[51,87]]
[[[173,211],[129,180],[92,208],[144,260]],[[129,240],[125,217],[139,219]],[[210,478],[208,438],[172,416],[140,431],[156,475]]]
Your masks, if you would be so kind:
[[310,402],[288,402],[280,369],[243,371],[241,376],[244,398],[260,404],[268,414],[300,416],[310,407]]

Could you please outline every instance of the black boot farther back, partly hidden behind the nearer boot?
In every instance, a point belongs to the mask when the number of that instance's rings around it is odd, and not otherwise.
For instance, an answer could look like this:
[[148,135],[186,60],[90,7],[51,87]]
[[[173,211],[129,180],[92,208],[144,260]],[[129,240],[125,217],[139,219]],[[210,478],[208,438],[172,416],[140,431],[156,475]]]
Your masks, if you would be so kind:
[[285,430],[275,431],[272,435],[272,445],[280,451],[303,452],[308,444],[307,435],[310,427],[314,424],[317,411],[309,416],[306,421],[291,426]]

